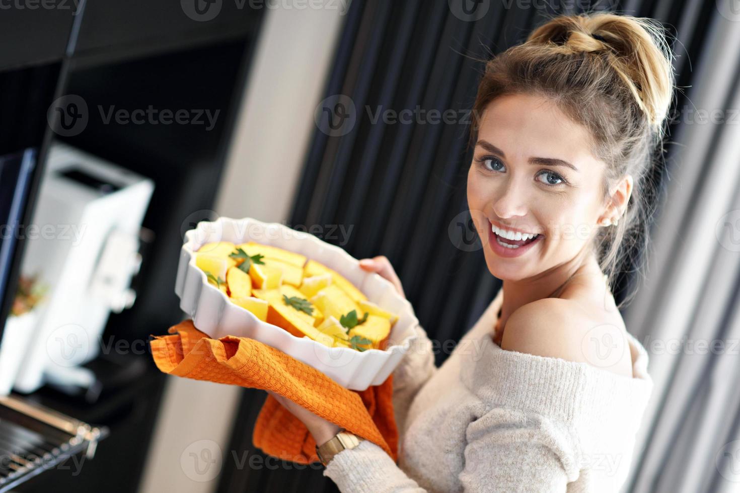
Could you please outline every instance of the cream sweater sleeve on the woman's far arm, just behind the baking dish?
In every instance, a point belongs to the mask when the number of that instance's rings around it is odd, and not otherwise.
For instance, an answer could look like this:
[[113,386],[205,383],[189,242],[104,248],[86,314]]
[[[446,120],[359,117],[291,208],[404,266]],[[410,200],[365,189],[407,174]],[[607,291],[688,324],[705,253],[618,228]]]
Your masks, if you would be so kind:
[[411,343],[408,352],[393,370],[393,409],[396,426],[403,433],[406,425],[408,408],[420,388],[434,375],[434,353],[431,340],[420,325],[414,327],[417,339]]

